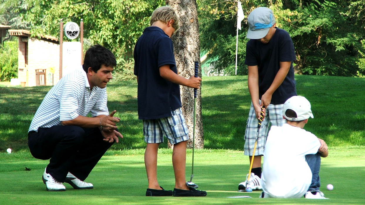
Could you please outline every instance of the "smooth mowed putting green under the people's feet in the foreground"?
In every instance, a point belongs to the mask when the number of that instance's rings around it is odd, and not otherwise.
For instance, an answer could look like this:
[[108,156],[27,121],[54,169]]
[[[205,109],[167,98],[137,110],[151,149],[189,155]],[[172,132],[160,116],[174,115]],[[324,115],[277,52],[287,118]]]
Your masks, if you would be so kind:
[[[249,161],[242,151],[195,150],[193,182],[199,185],[199,189],[207,190],[206,197],[146,197],[143,150],[108,151],[86,180],[93,183],[94,189],[75,190],[65,184],[66,192],[46,191],[41,177],[48,161],[34,159],[28,151],[0,153],[0,204],[365,204],[365,147],[331,147],[329,151],[329,156],[322,158],[320,177],[321,191],[330,199],[320,201],[261,199],[258,198],[260,192],[237,192],[238,184],[249,169]],[[164,189],[173,189],[171,150],[161,149],[159,152],[160,185]],[[190,171],[191,150],[188,150],[187,180]],[[334,189],[327,190],[327,184],[332,184]]]

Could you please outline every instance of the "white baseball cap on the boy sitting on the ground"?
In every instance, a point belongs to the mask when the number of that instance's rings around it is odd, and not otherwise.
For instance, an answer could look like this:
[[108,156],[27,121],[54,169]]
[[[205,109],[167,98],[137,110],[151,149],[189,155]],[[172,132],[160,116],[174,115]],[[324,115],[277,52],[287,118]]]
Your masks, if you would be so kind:
[[[296,118],[290,118],[285,115],[285,112],[291,109],[296,114]],[[311,103],[303,96],[292,96],[284,103],[283,116],[290,121],[301,121],[308,118],[314,118],[311,110]]]

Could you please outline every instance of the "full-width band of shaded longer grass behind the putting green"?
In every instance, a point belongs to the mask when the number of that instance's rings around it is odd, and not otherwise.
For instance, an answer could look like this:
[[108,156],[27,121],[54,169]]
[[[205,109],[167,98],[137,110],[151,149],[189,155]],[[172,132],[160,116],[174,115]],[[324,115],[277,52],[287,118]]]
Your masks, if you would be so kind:
[[[365,146],[365,79],[296,75],[297,93],[312,104],[314,119],[305,129],[329,146]],[[50,86],[0,87],[0,151],[27,150],[32,117]],[[247,76],[203,77],[202,119],[206,149],[243,149],[250,94]],[[142,122],[137,115],[137,82],[111,81],[108,107],[117,110],[124,136],[112,149],[143,149]],[[161,147],[167,147],[165,141]]]

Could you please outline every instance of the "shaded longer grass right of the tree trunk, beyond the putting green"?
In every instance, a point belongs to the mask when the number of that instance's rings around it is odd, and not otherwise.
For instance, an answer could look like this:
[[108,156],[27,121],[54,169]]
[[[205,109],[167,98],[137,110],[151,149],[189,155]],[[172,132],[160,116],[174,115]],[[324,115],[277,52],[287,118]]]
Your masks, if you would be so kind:
[[[312,105],[305,129],[330,146],[365,145],[365,79],[296,75],[297,94]],[[247,76],[207,77],[202,84],[204,146],[242,150],[251,97]]]

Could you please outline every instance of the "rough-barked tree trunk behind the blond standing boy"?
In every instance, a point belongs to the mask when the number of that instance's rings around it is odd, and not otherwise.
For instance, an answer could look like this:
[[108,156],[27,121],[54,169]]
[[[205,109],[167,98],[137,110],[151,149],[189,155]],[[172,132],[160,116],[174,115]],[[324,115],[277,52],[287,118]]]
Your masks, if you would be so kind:
[[[174,54],[178,75],[190,78],[194,75],[194,62],[199,62],[199,77],[201,77],[200,67],[200,41],[199,25],[196,10],[196,1],[192,0],[166,0],[166,4],[176,11],[179,18],[180,29],[171,36],[174,43]],[[181,103],[183,104],[183,114],[189,128],[188,148],[192,147],[193,141],[193,111],[194,111],[194,91],[193,88],[180,86]],[[201,121],[201,91],[197,90],[196,97],[196,125],[195,125],[195,147],[204,148],[203,123]]]

